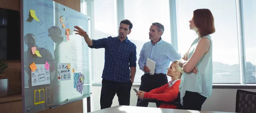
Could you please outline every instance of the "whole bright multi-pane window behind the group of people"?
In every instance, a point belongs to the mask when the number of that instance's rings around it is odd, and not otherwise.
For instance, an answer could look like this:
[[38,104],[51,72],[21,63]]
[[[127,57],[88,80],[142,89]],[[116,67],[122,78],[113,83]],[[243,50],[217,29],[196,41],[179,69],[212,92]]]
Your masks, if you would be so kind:
[[[118,19],[131,20],[134,27],[128,35],[128,39],[137,46],[137,72],[134,83],[140,83],[143,71],[139,69],[138,59],[141,48],[148,42],[148,32],[151,23],[162,23],[165,32],[163,40],[171,43],[170,26],[170,0],[123,0],[118,4],[121,10],[117,10],[117,0],[93,1],[93,39],[108,36],[117,36]],[[192,41],[197,38],[195,31],[189,29],[189,20],[192,13],[198,8],[208,8],[215,19],[216,32],[211,35],[213,42],[213,83],[215,84],[255,84],[256,83],[256,1],[254,0],[175,0],[177,17],[177,43],[178,52],[185,54]],[[242,15],[239,13],[242,2]],[[124,9],[124,10],[122,10]],[[122,12],[124,11],[124,12]],[[108,13],[106,13],[108,12]],[[239,16],[242,17],[240,24]],[[93,17],[92,17],[93,18]],[[241,18],[240,18],[241,19]],[[240,27],[241,26],[241,27]],[[242,28],[242,29],[241,29]],[[243,34],[240,39],[240,31]],[[176,40],[176,39],[175,39]],[[244,48],[241,48],[244,47]],[[91,49],[93,83],[101,83],[104,68],[105,49]],[[244,56],[242,59],[241,56]],[[242,61],[245,61],[243,63]],[[242,70],[245,69],[243,73]],[[170,80],[170,78],[168,78]],[[243,82],[242,82],[243,81]]]

